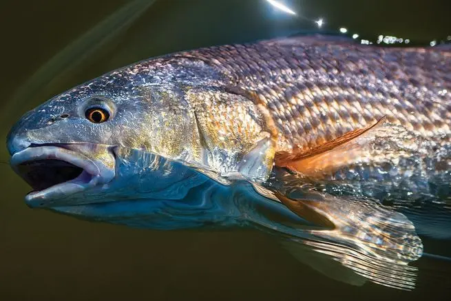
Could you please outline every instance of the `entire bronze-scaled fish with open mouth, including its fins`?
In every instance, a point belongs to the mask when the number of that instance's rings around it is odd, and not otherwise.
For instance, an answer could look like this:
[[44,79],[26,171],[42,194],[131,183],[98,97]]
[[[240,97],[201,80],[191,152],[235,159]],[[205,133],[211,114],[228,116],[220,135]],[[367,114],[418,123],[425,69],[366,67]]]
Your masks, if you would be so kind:
[[253,225],[409,289],[422,254],[412,222],[328,183],[446,187],[450,71],[449,50],[326,37],[178,52],[55,96],[14,125],[8,149],[31,207],[157,229]]

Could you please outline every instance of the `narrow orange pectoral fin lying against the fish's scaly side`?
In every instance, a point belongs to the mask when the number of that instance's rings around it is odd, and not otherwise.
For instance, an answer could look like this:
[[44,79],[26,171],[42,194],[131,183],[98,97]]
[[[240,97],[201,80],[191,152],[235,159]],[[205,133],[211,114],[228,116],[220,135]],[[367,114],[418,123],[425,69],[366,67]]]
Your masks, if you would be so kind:
[[355,129],[306,152],[278,152],[275,165],[313,178],[331,174],[362,158],[368,152],[368,139],[374,138],[375,129],[385,121],[384,116],[370,127]]

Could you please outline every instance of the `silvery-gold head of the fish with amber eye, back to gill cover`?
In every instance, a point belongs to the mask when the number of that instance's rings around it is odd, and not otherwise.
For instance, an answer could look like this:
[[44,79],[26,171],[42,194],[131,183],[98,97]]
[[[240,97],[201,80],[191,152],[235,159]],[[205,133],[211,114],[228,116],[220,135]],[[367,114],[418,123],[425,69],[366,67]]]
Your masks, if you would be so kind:
[[[11,129],[7,142],[14,171],[34,189],[25,202],[32,207],[56,207],[126,198],[129,191],[118,189],[120,183],[126,183],[125,178],[153,178],[154,182],[146,185],[158,191],[180,181],[182,167],[222,183],[229,183],[224,180],[227,176],[251,174],[260,168],[255,160],[266,156],[266,149],[271,148],[269,139],[259,125],[251,126],[256,129],[253,132],[237,129],[235,132],[247,133],[241,136],[230,134],[222,123],[212,126],[215,122],[205,113],[210,108],[200,105],[205,101],[200,96],[218,90],[200,91],[202,83],[197,77],[202,72],[186,65],[180,69],[180,63],[138,63],[74,87],[25,114]],[[231,112],[231,106],[233,101],[219,114]],[[241,109],[242,116],[255,111],[252,107]],[[261,118],[251,119],[260,122]],[[225,138],[218,135],[221,131]],[[178,172],[171,169],[174,173],[165,181],[157,180],[161,175],[145,165],[148,161],[141,160],[143,165],[122,172],[119,169],[126,164],[119,163],[136,156],[127,150],[182,164]],[[266,157],[264,164],[270,165]],[[268,170],[258,172],[266,176]],[[139,185],[139,181],[134,183]]]

